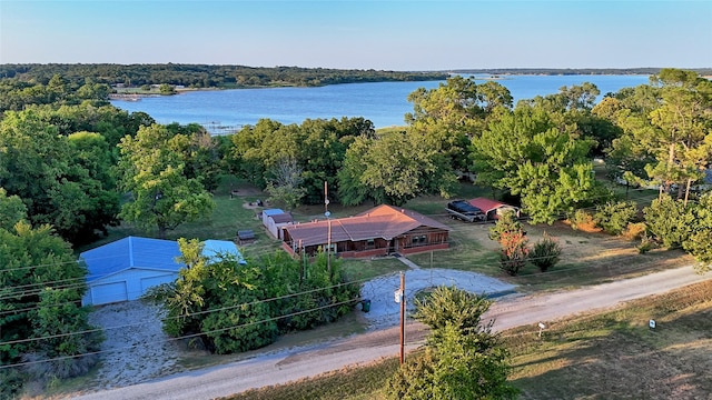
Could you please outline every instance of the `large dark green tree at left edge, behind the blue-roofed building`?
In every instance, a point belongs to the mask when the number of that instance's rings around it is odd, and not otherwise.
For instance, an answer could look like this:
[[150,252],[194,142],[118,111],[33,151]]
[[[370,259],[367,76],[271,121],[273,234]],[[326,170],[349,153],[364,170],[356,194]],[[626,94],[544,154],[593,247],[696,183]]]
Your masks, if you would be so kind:
[[108,154],[101,137],[60,136],[32,110],[0,121],[0,184],[22,199],[32,223],[51,223],[71,242],[91,240],[115,221]]

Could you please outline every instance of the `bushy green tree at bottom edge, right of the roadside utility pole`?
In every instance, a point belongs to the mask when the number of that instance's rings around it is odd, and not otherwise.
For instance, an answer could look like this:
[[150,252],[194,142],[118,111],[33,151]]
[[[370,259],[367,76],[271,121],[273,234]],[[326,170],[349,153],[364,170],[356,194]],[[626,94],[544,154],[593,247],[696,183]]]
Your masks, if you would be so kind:
[[388,380],[389,399],[514,399],[508,354],[482,326],[491,302],[457,288],[439,287],[416,299],[415,317],[432,328],[424,352]]

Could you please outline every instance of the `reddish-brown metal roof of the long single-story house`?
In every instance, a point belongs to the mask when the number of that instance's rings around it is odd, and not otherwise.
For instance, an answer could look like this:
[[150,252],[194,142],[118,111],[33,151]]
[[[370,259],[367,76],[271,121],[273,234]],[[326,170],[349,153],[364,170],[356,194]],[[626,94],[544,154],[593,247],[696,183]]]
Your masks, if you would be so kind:
[[383,238],[390,240],[418,227],[451,230],[447,226],[415,211],[392,206],[378,206],[354,217],[303,222],[287,226],[291,240],[300,246],[328,242],[328,226],[332,226],[332,242],[359,241]]

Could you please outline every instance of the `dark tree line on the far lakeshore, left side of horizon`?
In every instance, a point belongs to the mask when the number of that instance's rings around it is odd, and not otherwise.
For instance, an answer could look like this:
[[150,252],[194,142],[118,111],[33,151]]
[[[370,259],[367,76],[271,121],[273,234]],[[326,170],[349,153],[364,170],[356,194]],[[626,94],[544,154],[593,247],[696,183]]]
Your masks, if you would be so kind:
[[319,87],[336,83],[444,80],[445,72],[340,70],[300,67],[209,64],[0,64],[0,81],[48,84],[61,76],[71,84],[96,83],[141,87],[172,84],[187,88]]

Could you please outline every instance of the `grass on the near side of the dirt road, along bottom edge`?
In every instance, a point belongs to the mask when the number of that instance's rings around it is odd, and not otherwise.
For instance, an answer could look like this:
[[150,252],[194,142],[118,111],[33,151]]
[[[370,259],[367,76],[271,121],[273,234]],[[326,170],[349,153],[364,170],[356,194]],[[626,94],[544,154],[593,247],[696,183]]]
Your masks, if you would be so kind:
[[[521,399],[706,399],[712,393],[712,281],[501,332]],[[650,319],[656,321],[654,330]],[[397,358],[225,399],[384,399]]]

